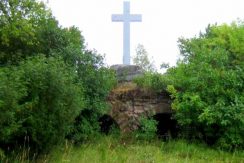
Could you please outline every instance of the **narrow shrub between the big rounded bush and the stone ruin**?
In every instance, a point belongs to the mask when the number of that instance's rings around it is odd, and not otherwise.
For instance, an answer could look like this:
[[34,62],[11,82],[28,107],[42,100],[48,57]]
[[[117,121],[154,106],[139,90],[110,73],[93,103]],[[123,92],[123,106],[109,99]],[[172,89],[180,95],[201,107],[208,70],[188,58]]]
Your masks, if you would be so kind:
[[106,99],[117,83],[114,71],[104,67],[103,57],[95,51],[85,51],[79,63],[78,79],[84,88],[85,105],[68,136],[76,143],[99,133],[99,118],[107,113]]

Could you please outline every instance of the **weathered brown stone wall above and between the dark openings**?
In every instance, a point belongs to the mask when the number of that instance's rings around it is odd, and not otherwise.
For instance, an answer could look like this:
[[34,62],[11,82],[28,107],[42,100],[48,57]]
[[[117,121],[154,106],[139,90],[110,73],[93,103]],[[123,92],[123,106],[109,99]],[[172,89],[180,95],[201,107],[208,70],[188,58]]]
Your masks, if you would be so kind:
[[164,92],[153,93],[131,82],[120,83],[108,98],[111,104],[109,115],[117,122],[122,132],[130,132],[139,127],[142,115],[170,114],[170,97]]

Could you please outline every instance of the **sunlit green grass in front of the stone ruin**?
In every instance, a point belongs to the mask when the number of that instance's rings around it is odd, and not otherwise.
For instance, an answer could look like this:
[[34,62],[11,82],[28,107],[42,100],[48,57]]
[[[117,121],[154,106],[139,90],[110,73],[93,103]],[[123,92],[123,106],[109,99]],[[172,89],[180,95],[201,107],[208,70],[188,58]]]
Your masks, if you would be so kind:
[[74,146],[57,147],[38,162],[70,163],[153,163],[153,162],[237,162],[244,163],[244,152],[228,153],[189,144],[183,140],[162,142],[123,141],[104,136],[99,140]]

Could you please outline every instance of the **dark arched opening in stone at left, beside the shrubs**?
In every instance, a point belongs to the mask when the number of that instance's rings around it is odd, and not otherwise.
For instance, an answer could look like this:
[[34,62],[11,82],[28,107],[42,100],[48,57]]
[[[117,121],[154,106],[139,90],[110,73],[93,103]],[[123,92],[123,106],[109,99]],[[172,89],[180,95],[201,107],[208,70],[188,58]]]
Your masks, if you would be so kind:
[[117,122],[109,115],[103,115],[99,119],[100,129],[102,133],[109,134],[112,130],[119,131],[119,125]]

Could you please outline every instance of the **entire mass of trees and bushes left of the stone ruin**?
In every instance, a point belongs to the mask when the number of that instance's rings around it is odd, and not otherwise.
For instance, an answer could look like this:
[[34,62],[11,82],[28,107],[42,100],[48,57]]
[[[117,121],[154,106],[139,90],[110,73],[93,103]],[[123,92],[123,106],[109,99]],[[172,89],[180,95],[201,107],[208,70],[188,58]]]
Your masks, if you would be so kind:
[[0,155],[28,144],[46,153],[65,138],[84,141],[98,119],[115,75],[103,56],[62,28],[43,3],[0,2]]

